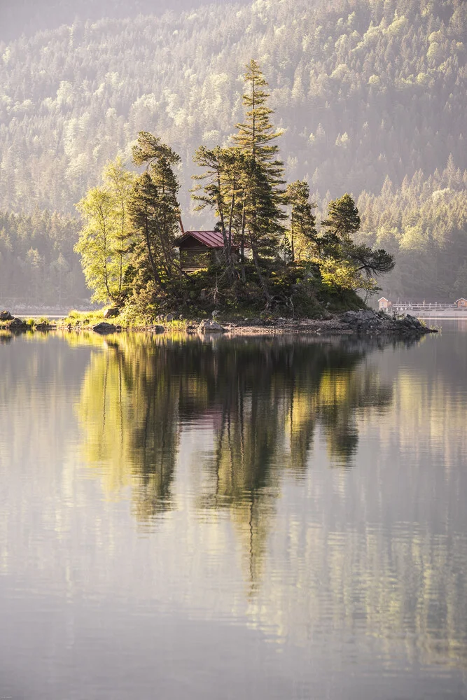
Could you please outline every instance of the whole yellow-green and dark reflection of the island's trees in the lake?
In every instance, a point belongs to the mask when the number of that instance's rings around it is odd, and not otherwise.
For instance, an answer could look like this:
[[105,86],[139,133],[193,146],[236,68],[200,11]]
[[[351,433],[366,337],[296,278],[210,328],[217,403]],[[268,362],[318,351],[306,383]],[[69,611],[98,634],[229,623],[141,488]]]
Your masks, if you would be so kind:
[[282,472],[304,474],[317,428],[333,464],[349,467],[356,412],[391,404],[391,385],[365,365],[368,345],[357,341],[121,335],[97,343],[78,403],[85,461],[100,468],[108,491],[132,486],[142,521],[172,507],[187,426],[213,434],[200,507],[235,507],[253,531],[262,519],[253,510],[277,495]]

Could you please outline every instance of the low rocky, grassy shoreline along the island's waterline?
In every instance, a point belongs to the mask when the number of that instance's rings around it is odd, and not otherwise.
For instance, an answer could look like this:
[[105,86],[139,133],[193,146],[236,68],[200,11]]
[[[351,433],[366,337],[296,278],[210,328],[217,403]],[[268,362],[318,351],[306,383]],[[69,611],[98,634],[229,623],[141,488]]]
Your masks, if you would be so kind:
[[[2,318],[3,317],[3,318]],[[25,330],[93,330],[101,335],[109,335],[114,332],[135,331],[151,333],[174,332],[171,325],[172,318],[157,325],[148,325],[137,328],[122,328],[108,321],[102,321],[95,325],[81,325],[78,328],[59,323],[42,321],[35,325],[28,325],[21,318],[12,316],[8,311],[0,313],[1,328],[11,332],[24,332]],[[180,328],[177,329],[180,332]],[[186,321],[185,330],[188,335],[214,335],[225,334],[238,335],[393,335],[396,337],[421,337],[426,333],[438,332],[435,328],[428,328],[414,316],[389,316],[384,311],[372,311],[361,309],[360,311],[345,311],[343,314],[334,314],[321,319],[244,319],[244,321]]]

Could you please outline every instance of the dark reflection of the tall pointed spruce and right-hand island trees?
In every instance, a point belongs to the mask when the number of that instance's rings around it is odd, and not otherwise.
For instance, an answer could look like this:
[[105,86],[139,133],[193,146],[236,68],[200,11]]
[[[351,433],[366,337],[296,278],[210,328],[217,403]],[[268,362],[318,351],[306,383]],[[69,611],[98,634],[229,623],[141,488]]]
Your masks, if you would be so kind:
[[363,363],[365,346],[357,342],[227,339],[201,351],[212,356],[203,408],[215,419],[210,488],[200,507],[230,509],[253,592],[284,470],[305,474],[318,428],[331,463],[348,467],[358,443],[356,412],[389,406],[391,386]]

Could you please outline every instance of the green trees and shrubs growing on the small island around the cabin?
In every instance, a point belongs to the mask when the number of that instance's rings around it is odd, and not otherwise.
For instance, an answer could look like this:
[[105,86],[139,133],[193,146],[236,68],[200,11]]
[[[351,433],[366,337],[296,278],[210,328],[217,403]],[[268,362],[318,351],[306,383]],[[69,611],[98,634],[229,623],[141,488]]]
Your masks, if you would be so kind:
[[[140,132],[132,148],[133,162],[146,166],[145,171],[125,180],[119,162],[118,167],[106,170],[113,174],[110,186],[107,176],[107,187],[90,190],[78,205],[87,225],[76,250],[82,255],[95,299],[121,305],[131,289],[127,309],[133,307],[139,318],[148,321],[174,308],[193,314],[197,309],[238,311],[253,306],[295,314],[293,294],[300,285],[300,307],[308,306],[309,311],[319,304],[316,288],[308,304],[305,301],[309,288],[302,283],[305,271],[312,269],[321,288],[333,292],[373,290],[376,283],[370,274],[392,269],[393,259],[384,250],[373,252],[352,241],[360,218],[350,195],[329,203],[328,218],[322,222],[324,232],[318,238],[308,184],[297,181],[286,192],[281,189],[282,163],[277,145],[270,145],[279,134],[270,123],[267,82],[256,62],[247,66],[244,79],[247,111],[245,123],[239,125],[237,145],[212,150],[202,146],[195,153],[195,162],[204,172],[195,176],[193,199],[197,209],[210,207],[216,212],[217,228],[223,235],[222,257],[207,253],[204,271],[191,277],[183,272],[175,254],[180,208],[174,167],[180,158],[158,137]],[[117,200],[111,190],[116,181],[127,183]],[[291,240],[283,235],[285,205],[291,206]],[[121,237],[132,241],[125,248],[114,244],[113,227],[120,220],[131,224]],[[308,267],[295,265],[295,237]],[[125,265],[118,265],[123,254]],[[197,262],[200,266],[200,260]],[[123,282],[127,284],[124,297],[113,291],[116,272],[120,288]]]

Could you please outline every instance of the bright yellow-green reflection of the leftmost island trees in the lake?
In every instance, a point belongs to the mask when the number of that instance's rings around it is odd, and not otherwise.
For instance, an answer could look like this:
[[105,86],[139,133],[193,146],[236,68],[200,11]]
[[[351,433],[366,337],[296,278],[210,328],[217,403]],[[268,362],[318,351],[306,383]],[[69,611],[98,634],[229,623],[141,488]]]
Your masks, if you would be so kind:
[[132,486],[139,521],[172,505],[178,404],[169,346],[160,344],[155,352],[147,339],[118,337],[92,357],[78,407],[85,461],[105,465],[109,491]]

